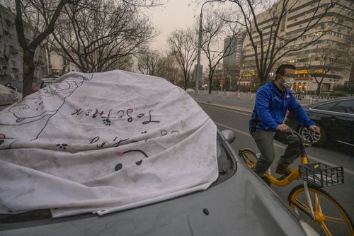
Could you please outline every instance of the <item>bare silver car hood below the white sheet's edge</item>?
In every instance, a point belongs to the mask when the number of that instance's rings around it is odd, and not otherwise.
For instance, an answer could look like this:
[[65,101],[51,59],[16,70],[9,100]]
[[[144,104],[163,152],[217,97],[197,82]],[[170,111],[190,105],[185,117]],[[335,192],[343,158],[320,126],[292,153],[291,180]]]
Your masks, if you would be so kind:
[[67,235],[305,235],[295,215],[241,163],[232,178],[188,196],[103,217],[78,215],[24,226],[1,235],[54,236],[63,229]]

